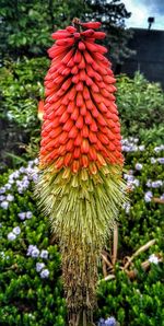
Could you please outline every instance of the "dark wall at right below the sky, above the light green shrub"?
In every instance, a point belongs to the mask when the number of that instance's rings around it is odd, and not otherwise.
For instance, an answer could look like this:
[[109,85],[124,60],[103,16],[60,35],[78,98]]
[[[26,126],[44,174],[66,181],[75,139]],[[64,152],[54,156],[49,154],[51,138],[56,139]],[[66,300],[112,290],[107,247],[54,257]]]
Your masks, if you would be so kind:
[[133,77],[139,70],[149,81],[161,82],[164,86],[164,31],[132,31],[129,47],[137,53],[125,61],[121,72]]

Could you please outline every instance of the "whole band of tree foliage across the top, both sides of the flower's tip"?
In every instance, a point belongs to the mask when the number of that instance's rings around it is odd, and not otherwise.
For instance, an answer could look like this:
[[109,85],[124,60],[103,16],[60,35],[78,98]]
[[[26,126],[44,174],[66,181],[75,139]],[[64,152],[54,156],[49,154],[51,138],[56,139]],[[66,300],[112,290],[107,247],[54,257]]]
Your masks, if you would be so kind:
[[115,62],[127,58],[130,50],[127,42],[131,32],[125,30],[125,19],[130,14],[120,0],[84,1],[84,0],[1,0],[1,43],[2,58],[11,56],[43,56],[50,47],[50,34],[54,30],[70,24],[73,18],[81,20],[96,19],[102,21],[107,31],[107,45],[112,48]]

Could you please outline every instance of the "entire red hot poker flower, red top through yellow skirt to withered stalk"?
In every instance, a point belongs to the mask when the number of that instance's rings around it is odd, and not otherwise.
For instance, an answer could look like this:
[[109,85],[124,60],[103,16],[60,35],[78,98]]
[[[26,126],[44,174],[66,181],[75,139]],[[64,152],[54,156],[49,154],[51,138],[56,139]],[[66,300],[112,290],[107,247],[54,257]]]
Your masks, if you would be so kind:
[[[124,201],[115,78],[99,22],[52,34],[36,188],[60,241],[69,311],[95,303],[97,259]],[[75,317],[74,317],[75,318]],[[74,324],[73,324],[74,325]]]

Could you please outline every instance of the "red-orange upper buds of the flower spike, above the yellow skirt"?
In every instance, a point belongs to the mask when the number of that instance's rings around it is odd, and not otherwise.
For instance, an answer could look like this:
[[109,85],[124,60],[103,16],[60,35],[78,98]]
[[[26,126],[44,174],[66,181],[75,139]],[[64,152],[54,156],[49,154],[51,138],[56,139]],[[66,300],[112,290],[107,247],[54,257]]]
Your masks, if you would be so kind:
[[[87,28],[87,26],[93,26]],[[115,78],[107,49],[96,39],[101,23],[81,23],[52,34],[56,44],[45,78],[40,166],[69,166],[73,173],[95,174],[106,163],[122,165]]]

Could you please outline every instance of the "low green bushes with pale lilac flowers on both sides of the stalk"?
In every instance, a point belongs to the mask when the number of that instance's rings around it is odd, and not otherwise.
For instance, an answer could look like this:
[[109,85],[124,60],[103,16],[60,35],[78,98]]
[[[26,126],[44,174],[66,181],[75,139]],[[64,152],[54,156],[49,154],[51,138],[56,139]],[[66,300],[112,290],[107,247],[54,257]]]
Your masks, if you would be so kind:
[[[119,217],[119,251],[115,280],[101,281],[99,317],[115,316],[121,326],[163,325],[162,316],[162,217],[164,147],[145,149],[137,139],[124,141],[130,191],[130,205]],[[47,218],[37,210],[33,184],[37,178],[36,161],[26,167],[0,176],[0,324],[66,325],[66,305],[60,280],[60,256],[50,236]],[[132,281],[120,270],[122,258],[155,238],[149,251],[141,253],[131,269],[138,270]],[[109,249],[109,248],[108,248]],[[154,254],[148,271],[141,263]],[[48,255],[48,257],[47,257]],[[40,263],[42,265],[39,265]],[[43,265],[45,264],[45,265]],[[99,268],[99,279],[102,276]]]

